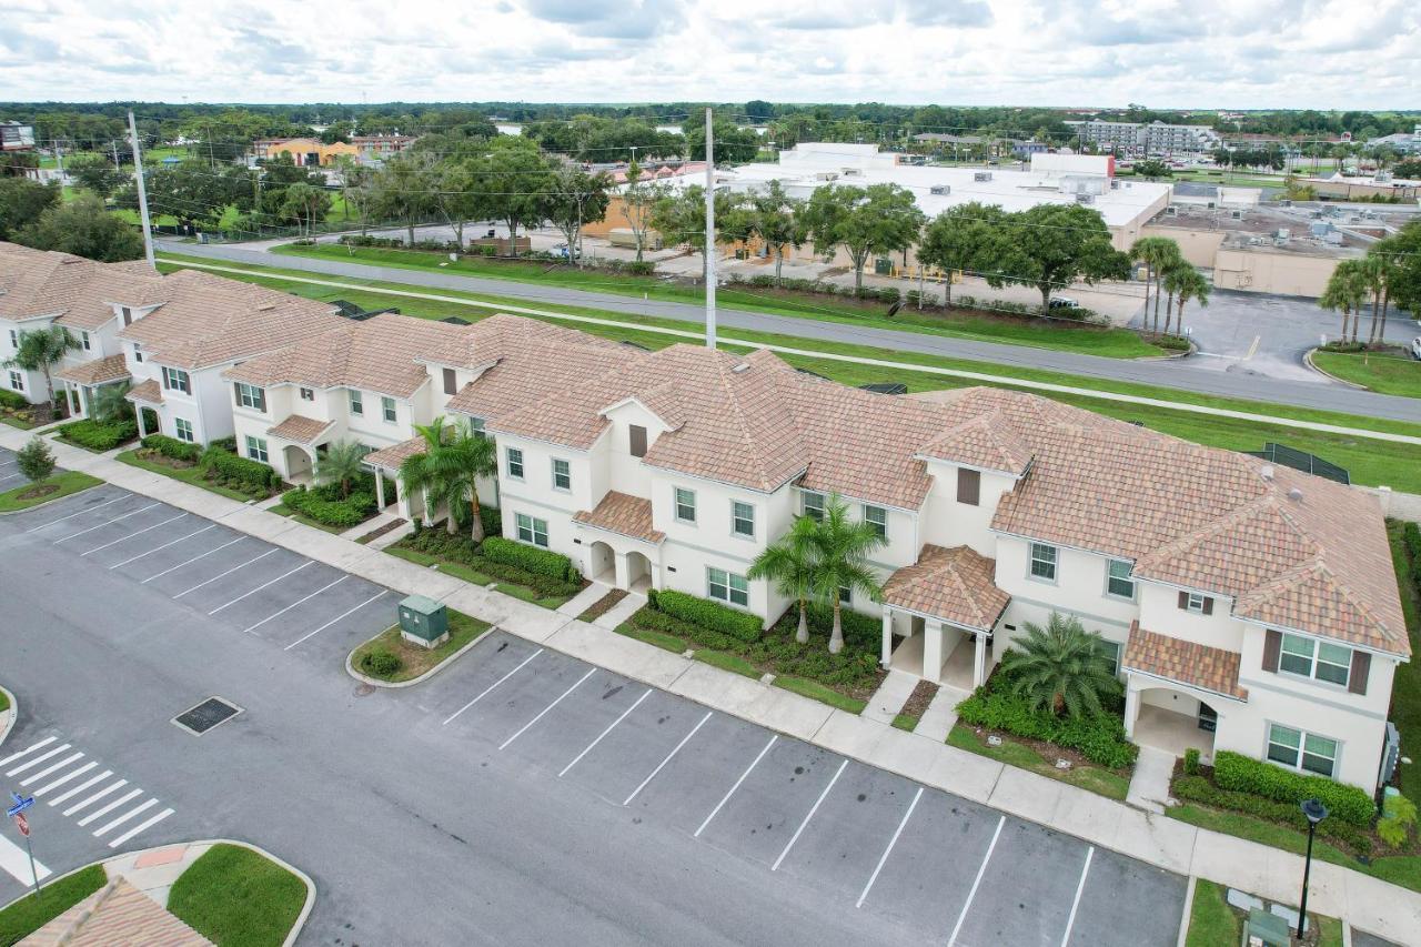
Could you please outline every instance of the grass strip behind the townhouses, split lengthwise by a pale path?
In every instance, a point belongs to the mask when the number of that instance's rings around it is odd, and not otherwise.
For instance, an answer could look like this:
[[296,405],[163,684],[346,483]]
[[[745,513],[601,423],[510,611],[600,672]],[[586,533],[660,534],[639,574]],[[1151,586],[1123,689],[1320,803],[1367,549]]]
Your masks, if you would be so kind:
[[[180,257],[169,257],[169,259],[179,260]],[[203,260],[195,260],[195,262],[203,262]],[[273,272],[270,267],[244,267],[242,264],[229,264],[229,263],[222,263],[222,266],[232,266],[233,269],[246,270],[252,273],[250,277],[242,277],[242,279],[249,279],[250,282],[260,283],[263,286],[270,286],[273,289],[293,291],[300,296],[306,296],[308,299],[320,299],[324,301],[333,299],[348,299],[352,303],[357,303],[360,306],[367,306],[369,309],[398,306],[401,311],[404,311],[405,314],[418,316],[423,319],[443,319],[445,316],[458,314],[465,319],[476,321],[487,314],[492,314],[493,311],[493,309],[483,309],[477,306],[470,307],[459,301],[419,300],[419,299],[392,296],[379,291],[382,287],[404,289],[406,291],[409,290],[408,286],[401,287],[399,284],[392,284],[392,283],[375,283],[369,280],[331,277],[331,279],[340,279],[340,282],[342,283],[364,284],[371,287],[368,291],[333,289],[333,287],[315,286],[310,283],[297,283],[293,280],[283,279],[279,274],[279,272]],[[163,263],[161,264],[161,269],[163,270],[180,269],[180,264]],[[500,303],[506,303],[509,306],[524,306],[523,301],[500,300],[499,297],[479,296],[473,293],[456,293],[452,290],[421,290],[421,291],[433,291],[438,293],[439,296],[450,297],[452,300],[483,301],[483,303],[493,303],[495,306]],[[693,334],[693,327],[685,323],[676,323],[674,320],[624,316],[621,313],[607,313],[591,309],[578,309],[578,307],[553,306],[553,304],[547,306],[540,304],[537,309],[547,311],[570,313],[574,316],[611,319],[632,326],[644,326],[648,330],[671,328],[678,333]],[[560,324],[568,324],[568,323],[561,323],[560,320]],[[638,328],[622,328],[622,327],[577,324],[577,323],[571,324],[585,331],[605,336],[608,338],[635,341],[649,348],[662,348],[674,341],[688,341],[688,338],[684,337],[666,336],[662,333],[638,330]],[[817,340],[811,341],[793,336],[777,336],[773,333],[736,330],[733,333],[733,337],[759,344],[789,346],[796,348],[814,348],[817,351],[823,351],[827,354],[881,358],[887,361],[919,364],[925,367],[945,368],[952,371],[985,373],[1002,377],[1020,378],[1023,381],[1073,385],[1081,388],[1091,388],[1097,391],[1140,395],[1147,398],[1160,398],[1182,404],[1206,405],[1214,408],[1262,414],[1277,418],[1295,418],[1302,421],[1316,421],[1316,422],[1324,422],[1324,424],[1333,424],[1339,427],[1350,427],[1358,429],[1421,435],[1421,427],[1414,424],[1407,424],[1403,421],[1367,418],[1360,415],[1317,411],[1312,408],[1297,408],[1292,405],[1248,401],[1242,398],[1223,398],[1223,397],[1198,394],[1192,391],[1184,391],[1178,388],[1164,388],[1157,385],[1141,385],[1141,384],[1121,382],[1121,381],[1106,381],[1106,380],[1086,378],[1080,375],[1069,375],[1054,371],[1019,368],[1009,365],[992,365],[986,363],[973,363],[961,358],[944,358],[938,355],[926,355],[919,353],[890,351],[867,346],[821,343]],[[728,348],[735,350],[736,347],[728,347]],[[745,347],[740,348],[743,350]],[[809,368],[811,371],[817,371],[821,375],[851,385],[864,384],[867,381],[895,380],[907,384],[909,391],[929,391],[929,390],[953,388],[971,384],[983,384],[980,381],[969,378],[917,373],[911,370],[882,368],[875,365],[861,365],[861,364],[836,361],[833,358],[823,358],[814,355],[782,353],[782,357],[796,367]],[[1013,387],[1013,385],[1005,384],[1003,387]],[[1047,397],[1056,398],[1057,401],[1064,401],[1067,404],[1074,404],[1081,408],[1088,408],[1091,411],[1097,411],[1100,414],[1106,414],[1124,421],[1140,421],[1148,428],[1162,431],[1165,434],[1172,434],[1175,437],[1194,441],[1196,444],[1206,444],[1209,446],[1219,446],[1232,451],[1253,451],[1262,448],[1266,441],[1286,444],[1300,451],[1316,454],[1317,456],[1326,458],[1334,464],[1347,468],[1351,472],[1353,482],[1356,483],[1364,483],[1371,486],[1385,483],[1398,491],[1421,493],[1421,445],[1394,444],[1394,442],[1376,441],[1366,437],[1354,437],[1346,434],[1304,431],[1304,429],[1287,428],[1280,424],[1269,424],[1265,421],[1221,418],[1221,417],[1192,414],[1188,411],[1179,411],[1174,408],[1155,408],[1147,405],[1123,404],[1118,401],[1106,401],[1090,395],[1049,392]]]

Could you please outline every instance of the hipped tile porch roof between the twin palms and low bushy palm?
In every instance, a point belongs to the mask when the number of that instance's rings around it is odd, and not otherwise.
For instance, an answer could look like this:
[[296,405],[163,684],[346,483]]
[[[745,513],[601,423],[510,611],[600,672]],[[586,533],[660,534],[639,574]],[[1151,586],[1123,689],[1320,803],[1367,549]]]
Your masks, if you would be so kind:
[[968,546],[924,546],[918,562],[884,583],[885,604],[990,631],[1012,596],[996,587],[996,560]]

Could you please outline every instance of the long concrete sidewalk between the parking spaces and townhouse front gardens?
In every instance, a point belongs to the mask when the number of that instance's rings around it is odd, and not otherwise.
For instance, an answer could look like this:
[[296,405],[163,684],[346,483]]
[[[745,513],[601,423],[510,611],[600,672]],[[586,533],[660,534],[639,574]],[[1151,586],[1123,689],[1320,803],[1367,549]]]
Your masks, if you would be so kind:
[[[3,429],[0,446],[23,446],[28,437],[26,431]],[[830,708],[779,687],[767,687],[608,628],[472,586],[438,570],[422,569],[161,474],[65,444],[51,444],[64,468],[84,471],[135,493],[219,520],[396,592],[443,601],[512,634],[615,674],[1066,832],[1091,845],[1279,901],[1293,897],[1302,879],[1300,856],[1196,829],[1025,769],[1003,766],[948,747],[939,739],[928,739],[921,732],[909,734],[884,727],[874,719]],[[939,698],[948,700],[941,691]],[[919,731],[922,729],[919,725]],[[1421,930],[1421,893],[1326,862],[1313,863],[1312,877],[1314,910],[1347,919],[1363,930],[1397,943],[1414,943],[1415,931]]]

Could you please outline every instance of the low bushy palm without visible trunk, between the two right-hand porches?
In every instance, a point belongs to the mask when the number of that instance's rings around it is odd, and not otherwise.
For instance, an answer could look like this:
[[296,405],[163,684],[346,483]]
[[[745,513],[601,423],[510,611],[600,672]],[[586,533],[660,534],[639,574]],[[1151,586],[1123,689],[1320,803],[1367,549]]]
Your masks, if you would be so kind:
[[1002,656],[1002,668],[1033,711],[1050,707],[1057,717],[1094,715],[1103,710],[1103,695],[1120,691],[1100,636],[1086,631],[1080,619],[1053,611],[1044,628],[1030,621],[1022,627],[1026,634]]

